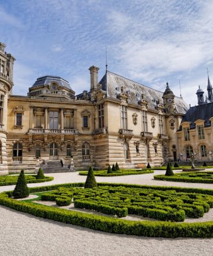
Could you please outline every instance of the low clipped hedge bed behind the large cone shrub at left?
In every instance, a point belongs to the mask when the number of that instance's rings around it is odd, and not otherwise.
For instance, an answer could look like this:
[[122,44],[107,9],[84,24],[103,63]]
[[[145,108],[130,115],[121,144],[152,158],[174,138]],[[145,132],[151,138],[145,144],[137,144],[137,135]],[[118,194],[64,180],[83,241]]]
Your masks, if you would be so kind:
[[[27,183],[43,183],[46,181],[52,181],[54,178],[53,177],[45,177],[44,179],[36,179],[36,175],[25,175],[25,179]],[[0,186],[3,185],[15,185],[18,180],[18,175],[15,176],[0,176]]]

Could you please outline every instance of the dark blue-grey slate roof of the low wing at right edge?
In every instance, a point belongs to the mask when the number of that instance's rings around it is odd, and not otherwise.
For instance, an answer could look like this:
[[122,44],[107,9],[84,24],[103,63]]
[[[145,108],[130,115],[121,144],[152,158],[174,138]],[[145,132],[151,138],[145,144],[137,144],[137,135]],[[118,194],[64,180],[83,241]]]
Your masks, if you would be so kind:
[[209,119],[211,119],[211,117],[213,117],[213,103],[206,103],[189,108],[181,123],[188,121],[193,124],[196,120],[204,120],[205,126],[208,126],[210,124]]

